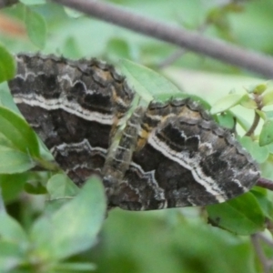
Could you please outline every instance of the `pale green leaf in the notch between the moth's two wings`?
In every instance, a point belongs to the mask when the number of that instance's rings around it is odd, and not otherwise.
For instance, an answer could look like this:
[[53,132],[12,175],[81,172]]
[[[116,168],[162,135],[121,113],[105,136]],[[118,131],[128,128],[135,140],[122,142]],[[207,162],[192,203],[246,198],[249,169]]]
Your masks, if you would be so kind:
[[121,65],[122,72],[126,76],[129,86],[132,86],[137,94],[147,102],[160,94],[168,93],[169,96],[176,96],[182,93],[166,77],[160,76],[145,66],[137,65],[126,59],[121,60]]

